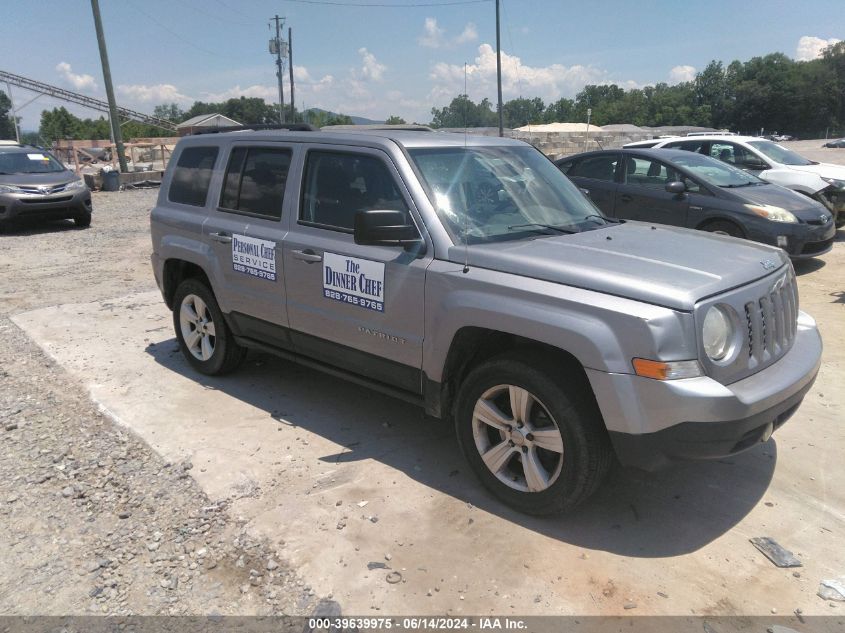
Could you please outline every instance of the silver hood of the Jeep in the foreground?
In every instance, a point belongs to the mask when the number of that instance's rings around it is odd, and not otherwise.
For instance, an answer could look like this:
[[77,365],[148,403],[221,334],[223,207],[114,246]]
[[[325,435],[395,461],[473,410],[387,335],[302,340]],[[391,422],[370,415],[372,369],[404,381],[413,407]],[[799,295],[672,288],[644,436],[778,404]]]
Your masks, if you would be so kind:
[[[642,222],[573,235],[449,249],[470,267],[524,275],[636,301],[692,310],[696,302],[771,274],[779,248]],[[765,262],[765,264],[764,264]]]

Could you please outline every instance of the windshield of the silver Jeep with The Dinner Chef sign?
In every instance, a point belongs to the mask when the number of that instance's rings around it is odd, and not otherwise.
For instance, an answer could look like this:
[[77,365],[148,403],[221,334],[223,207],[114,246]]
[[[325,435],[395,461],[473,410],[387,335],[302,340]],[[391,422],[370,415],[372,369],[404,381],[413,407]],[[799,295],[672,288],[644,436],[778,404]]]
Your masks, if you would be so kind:
[[409,150],[456,244],[579,233],[609,221],[533,147]]

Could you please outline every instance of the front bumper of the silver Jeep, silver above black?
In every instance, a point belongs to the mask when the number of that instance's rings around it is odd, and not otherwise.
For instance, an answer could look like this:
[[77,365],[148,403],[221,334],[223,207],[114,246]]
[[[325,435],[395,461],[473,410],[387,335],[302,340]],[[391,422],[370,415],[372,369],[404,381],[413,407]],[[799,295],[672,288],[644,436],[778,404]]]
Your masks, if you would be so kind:
[[658,470],[678,460],[726,457],[765,441],[797,410],[821,364],[822,342],[801,312],[792,349],[730,385],[708,377],[651,380],[588,370],[619,460]]

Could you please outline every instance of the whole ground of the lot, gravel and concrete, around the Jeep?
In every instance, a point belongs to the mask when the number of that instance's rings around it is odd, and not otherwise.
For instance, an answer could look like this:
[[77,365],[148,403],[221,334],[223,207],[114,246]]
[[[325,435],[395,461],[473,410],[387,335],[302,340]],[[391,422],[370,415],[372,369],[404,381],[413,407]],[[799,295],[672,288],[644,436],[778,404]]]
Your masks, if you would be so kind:
[[[261,355],[191,372],[148,263],[154,196],[96,194],[89,230],[0,236],[0,613],[845,608],[815,595],[845,574],[842,231],[797,266],[824,365],[773,440],[617,470],[577,516],[539,520],[486,495],[452,430],[403,403]],[[804,567],[775,568],[753,536]]]

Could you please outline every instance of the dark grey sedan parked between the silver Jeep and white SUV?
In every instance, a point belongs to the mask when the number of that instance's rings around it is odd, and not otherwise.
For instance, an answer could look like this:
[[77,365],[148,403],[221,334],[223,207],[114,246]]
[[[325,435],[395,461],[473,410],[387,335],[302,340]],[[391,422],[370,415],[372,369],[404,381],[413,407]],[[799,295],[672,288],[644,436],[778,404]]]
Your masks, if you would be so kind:
[[793,259],[828,252],[824,205],[719,160],[670,149],[586,152],[555,163],[611,217],[658,222],[780,246]]

